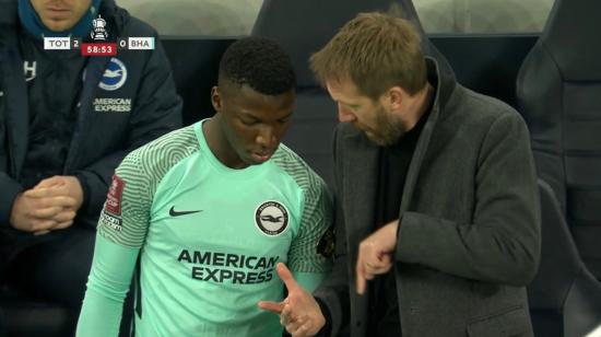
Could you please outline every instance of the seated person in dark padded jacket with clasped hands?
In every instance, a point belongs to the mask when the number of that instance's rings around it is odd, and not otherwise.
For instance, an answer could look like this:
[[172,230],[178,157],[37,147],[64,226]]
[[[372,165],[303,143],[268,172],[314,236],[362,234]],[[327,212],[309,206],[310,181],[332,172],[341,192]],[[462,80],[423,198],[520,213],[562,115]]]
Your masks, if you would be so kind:
[[113,0],[0,4],[1,277],[75,316],[115,168],[181,126],[160,43],[114,58],[44,49],[44,36],[89,39],[98,14],[108,40],[156,36]]

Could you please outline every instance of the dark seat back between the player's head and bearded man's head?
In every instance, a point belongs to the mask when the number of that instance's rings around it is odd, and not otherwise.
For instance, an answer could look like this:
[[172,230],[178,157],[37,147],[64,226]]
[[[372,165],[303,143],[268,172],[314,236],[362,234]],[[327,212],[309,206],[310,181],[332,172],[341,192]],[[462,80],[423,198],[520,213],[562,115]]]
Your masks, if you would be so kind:
[[422,33],[426,55],[434,56],[444,71],[450,66],[425,38],[411,0],[266,0],[252,28],[252,35],[278,40],[292,56],[297,73],[296,111],[284,143],[296,151],[328,185],[333,184],[332,135],[338,124],[337,106],[316,82],[309,56],[321,48],[349,20],[360,12],[387,11],[398,3],[403,16]]

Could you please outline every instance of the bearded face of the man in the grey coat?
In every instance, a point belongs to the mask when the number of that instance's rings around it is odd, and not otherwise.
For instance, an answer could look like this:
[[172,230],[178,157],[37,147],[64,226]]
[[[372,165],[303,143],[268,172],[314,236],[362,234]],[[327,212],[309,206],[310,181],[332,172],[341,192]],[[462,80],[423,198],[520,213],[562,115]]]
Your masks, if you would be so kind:
[[374,101],[362,95],[351,81],[329,81],[327,88],[338,103],[338,120],[352,124],[376,144],[393,144],[406,131],[401,118],[385,105],[385,95]]

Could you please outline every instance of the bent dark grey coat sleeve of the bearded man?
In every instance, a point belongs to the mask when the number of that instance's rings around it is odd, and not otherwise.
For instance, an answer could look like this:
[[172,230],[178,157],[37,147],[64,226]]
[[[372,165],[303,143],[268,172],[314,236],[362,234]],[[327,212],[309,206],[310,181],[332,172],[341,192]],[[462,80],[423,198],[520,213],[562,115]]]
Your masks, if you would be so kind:
[[500,115],[478,156],[473,223],[404,212],[396,259],[462,278],[526,286],[537,272],[541,245],[528,135],[517,113]]

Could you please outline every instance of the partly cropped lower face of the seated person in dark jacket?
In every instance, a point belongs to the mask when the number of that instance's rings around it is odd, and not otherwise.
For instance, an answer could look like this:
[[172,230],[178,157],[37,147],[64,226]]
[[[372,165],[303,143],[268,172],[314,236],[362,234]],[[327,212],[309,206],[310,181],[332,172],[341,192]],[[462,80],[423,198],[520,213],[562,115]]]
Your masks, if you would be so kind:
[[44,25],[52,32],[64,32],[80,21],[92,0],[30,0]]

